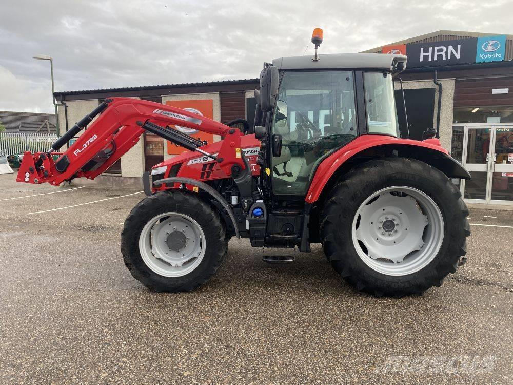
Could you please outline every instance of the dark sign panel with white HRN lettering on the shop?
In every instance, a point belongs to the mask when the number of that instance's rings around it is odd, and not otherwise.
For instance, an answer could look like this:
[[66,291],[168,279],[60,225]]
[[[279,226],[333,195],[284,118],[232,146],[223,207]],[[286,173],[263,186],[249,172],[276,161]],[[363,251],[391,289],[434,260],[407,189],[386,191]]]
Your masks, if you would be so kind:
[[474,63],[477,38],[408,44],[408,67],[427,67]]

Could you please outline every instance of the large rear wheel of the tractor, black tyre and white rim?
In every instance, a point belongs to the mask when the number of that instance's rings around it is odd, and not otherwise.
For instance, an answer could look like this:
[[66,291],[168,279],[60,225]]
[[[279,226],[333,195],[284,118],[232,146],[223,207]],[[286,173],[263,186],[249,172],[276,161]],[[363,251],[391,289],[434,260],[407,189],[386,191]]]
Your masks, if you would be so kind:
[[406,158],[374,160],[333,187],[321,214],[321,243],[357,290],[421,295],[456,272],[470,235],[467,215],[460,191],[438,169]]

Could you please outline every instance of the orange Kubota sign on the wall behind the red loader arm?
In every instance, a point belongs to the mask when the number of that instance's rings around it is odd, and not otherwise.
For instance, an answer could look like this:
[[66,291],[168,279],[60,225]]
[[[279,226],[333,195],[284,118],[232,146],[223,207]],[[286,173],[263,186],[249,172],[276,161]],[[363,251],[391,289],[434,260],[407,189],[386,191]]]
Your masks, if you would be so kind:
[[[197,113],[203,117],[207,117],[213,119],[214,107],[212,99],[202,99],[202,100],[168,100],[166,102],[168,106],[173,106],[177,108],[182,108],[186,111]],[[212,143],[214,140],[214,136],[211,133],[206,133],[202,131],[198,131],[188,127],[181,126],[171,126],[174,129],[177,129],[193,138],[199,138],[200,140],[206,140],[208,143]],[[186,149],[180,146],[177,146],[174,143],[167,142],[167,153],[171,155],[177,155],[182,152],[185,152]]]

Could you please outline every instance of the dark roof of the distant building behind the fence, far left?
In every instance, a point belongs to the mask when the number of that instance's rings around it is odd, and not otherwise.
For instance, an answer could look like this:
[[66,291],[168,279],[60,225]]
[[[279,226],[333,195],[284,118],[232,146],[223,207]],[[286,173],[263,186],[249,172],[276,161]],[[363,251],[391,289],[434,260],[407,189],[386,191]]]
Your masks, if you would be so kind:
[[55,114],[0,111],[6,132],[57,133]]

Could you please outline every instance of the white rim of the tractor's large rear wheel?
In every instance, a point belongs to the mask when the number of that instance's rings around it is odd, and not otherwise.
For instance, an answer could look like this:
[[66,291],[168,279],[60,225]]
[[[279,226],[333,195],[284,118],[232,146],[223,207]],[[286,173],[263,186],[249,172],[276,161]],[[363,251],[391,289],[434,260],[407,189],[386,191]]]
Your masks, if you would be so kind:
[[390,276],[418,272],[436,257],[444,238],[437,204],[407,186],[379,190],[358,208],[352,242],[362,261]]

